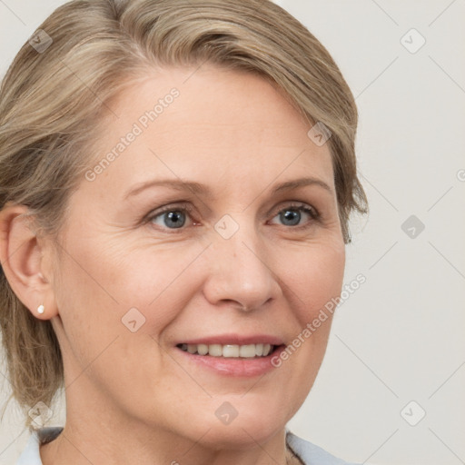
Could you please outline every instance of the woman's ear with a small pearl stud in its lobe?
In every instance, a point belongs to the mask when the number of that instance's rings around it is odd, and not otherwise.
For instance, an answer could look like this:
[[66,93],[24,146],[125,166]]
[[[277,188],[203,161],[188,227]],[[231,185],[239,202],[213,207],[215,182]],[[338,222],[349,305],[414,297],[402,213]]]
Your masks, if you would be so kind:
[[[18,299],[36,318],[48,320],[58,314],[50,266],[52,250],[50,242],[35,233],[29,213],[24,205],[8,203],[0,211],[0,262]],[[41,304],[44,313],[37,312]]]

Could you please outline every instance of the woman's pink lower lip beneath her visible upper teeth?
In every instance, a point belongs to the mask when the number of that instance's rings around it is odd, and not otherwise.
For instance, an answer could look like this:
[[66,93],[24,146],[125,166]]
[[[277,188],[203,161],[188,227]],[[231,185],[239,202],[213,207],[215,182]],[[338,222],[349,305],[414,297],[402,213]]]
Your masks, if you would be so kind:
[[180,351],[191,363],[196,363],[207,370],[215,371],[216,373],[225,376],[237,376],[244,378],[260,376],[268,371],[276,370],[272,365],[272,359],[279,356],[284,349],[285,346],[280,345],[266,357],[247,359],[236,357],[213,357],[212,355],[199,355],[198,353],[193,354],[176,347],[176,350]]

